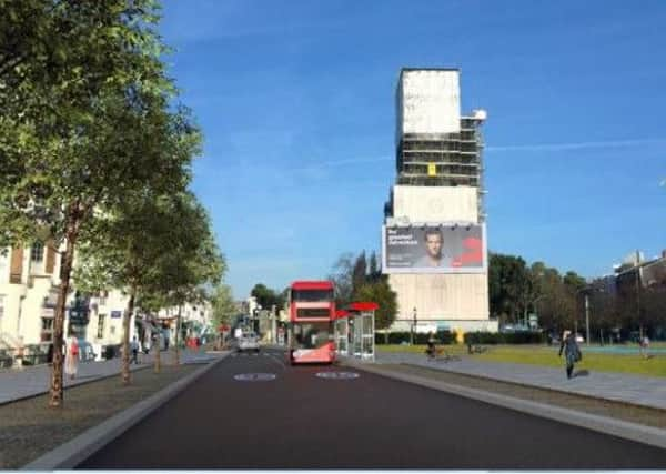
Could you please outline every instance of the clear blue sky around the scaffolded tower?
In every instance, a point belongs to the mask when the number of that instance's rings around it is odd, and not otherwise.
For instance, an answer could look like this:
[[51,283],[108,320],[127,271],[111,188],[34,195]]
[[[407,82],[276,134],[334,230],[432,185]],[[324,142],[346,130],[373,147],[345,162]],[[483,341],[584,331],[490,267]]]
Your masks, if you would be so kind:
[[236,299],[379,250],[403,67],[488,111],[488,249],[585,276],[666,249],[666,2],[165,0]]

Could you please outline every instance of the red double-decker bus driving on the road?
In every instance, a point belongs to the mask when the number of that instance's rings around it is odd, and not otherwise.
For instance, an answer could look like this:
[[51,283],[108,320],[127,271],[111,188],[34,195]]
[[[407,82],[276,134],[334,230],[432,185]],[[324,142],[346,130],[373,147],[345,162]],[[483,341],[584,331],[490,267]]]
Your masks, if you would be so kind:
[[335,297],[330,281],[299,281],[289,294],[289,354],[292,364],[335,360]]

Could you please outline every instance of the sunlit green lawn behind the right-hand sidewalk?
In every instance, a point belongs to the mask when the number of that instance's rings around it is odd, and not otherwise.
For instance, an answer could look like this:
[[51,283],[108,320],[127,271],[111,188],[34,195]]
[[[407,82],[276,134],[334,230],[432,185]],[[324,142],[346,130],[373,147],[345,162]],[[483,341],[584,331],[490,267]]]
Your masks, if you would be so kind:
[[[650,344],[652,347],[663,347],[664,343]],[[462,344],[444,345],[450,353],[467,355],[467,347]],[[557,356],[558,346],[545,345],[487,345],[483,354],[467,355],[481,361],[512,362],[519,364],[544,365],[563,367],[564,356]],[[414,352],[423,354],[425,345],[377,345],[379,352]],[[583,361],[576,364],[577,369],[587,369],[598,372],[622,372],[637,375],[666,377],[666,355],[657,354],[650,359],[643,359],[638,354],[602,354],[586,352],[585,345],[581,346]]]

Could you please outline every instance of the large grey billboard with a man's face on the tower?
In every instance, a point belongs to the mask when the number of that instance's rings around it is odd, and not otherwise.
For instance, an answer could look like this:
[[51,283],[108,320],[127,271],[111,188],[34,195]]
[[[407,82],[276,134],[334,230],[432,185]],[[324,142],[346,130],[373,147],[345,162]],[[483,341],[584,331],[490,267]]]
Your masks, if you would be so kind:
[[382,228],[383,273],[482,273],[486,260],[483,224]]

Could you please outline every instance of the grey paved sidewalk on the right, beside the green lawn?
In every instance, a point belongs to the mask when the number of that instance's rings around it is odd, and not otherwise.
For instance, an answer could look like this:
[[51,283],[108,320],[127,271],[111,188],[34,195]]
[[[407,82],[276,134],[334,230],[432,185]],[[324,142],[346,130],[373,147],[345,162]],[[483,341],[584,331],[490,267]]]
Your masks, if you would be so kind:
[[482,362],[472,356],[461,361],[427,361],[424,354],[377,351],[379,364],[415,364],[460,374],[477,375],[503,382],[533,385],[542,389],[619,401],[666,410],[666,379],[622,373],[582,371],[567,380],[562,369],[503,362]]

